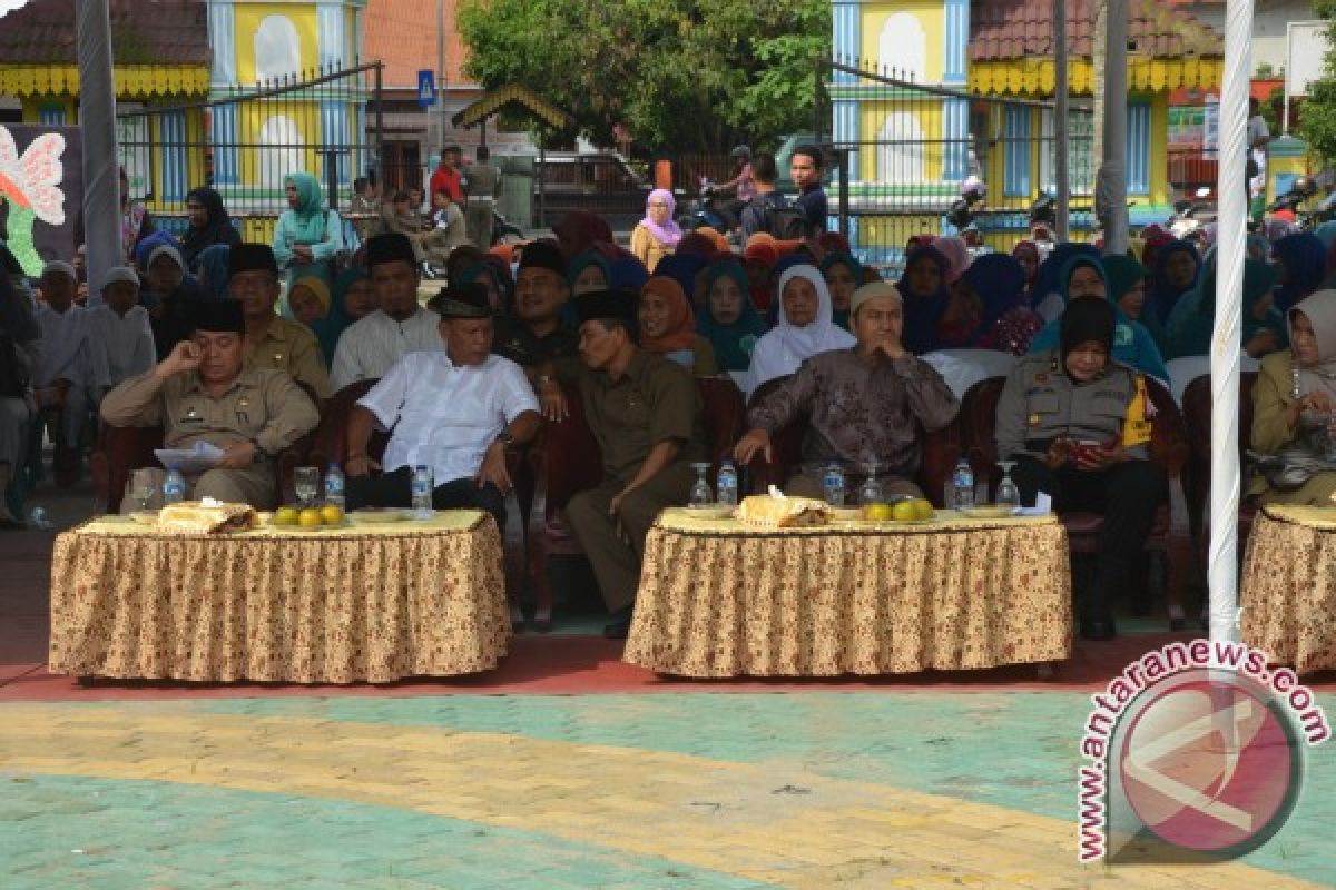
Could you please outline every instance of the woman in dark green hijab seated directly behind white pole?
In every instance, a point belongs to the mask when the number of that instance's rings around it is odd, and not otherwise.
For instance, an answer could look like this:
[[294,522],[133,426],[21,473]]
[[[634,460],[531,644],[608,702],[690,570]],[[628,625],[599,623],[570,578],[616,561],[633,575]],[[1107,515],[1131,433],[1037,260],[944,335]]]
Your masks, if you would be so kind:
[[[1285,316],[1272,302],[1276,268],[1260,260],[1244,260],[1242,348],[1260,359],[1289,346]],[[1197,284],[1182,295],[1169,314],[1168,356],[1206,355],[1216,326],[1216,248],[1201,266]]]

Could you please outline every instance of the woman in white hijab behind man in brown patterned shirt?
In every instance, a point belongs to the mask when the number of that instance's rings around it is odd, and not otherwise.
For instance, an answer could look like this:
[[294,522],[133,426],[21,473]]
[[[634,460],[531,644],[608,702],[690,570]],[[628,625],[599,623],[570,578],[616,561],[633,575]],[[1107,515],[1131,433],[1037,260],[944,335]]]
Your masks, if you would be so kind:
[[794,374],[814,355],[856,343],[852,334],[835,324],[831,292],[815,266],[790,267],[776,290],[779,320],[752,350],[743,387],[748,398],[763,383]]

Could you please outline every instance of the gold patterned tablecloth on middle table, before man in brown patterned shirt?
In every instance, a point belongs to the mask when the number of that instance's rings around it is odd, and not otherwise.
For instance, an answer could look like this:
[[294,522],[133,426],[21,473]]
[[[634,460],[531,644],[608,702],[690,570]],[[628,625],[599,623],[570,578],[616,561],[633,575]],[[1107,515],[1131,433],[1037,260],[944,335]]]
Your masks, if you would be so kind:
[[1070,655],[1053,516],[758,530],[665,511],[623,658],[681,677],[831,677]]

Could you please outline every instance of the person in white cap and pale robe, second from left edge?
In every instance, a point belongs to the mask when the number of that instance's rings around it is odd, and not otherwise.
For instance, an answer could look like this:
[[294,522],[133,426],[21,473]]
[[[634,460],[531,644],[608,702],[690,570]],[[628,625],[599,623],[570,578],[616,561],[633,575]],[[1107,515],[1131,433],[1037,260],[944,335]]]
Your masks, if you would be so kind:
[[102,306],[88,310],[94,399],[158,364],[148,310],[139,306],[139,275],[128,266],[107,270]]

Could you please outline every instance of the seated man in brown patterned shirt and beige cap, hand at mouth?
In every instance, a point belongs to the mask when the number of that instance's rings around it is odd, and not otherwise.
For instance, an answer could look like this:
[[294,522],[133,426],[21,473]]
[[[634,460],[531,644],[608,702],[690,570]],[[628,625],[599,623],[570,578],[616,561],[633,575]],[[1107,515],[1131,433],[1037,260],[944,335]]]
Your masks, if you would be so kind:
[[880,467],[882,490],[922,498],[914,484],[922,458],[923,431],[941,430],[961,406],[933,366],[900,343],[904,328],[900,292],[876,282],[854,292],[850,319],[858,343],[820,352],[754,406],[752,430],[737,442],[739,463],[758,452],[771,458],[770,438],[802,415],[810,415],[803,440],[803,467],[784,491],[820,498],[820,472],[831,462],[844,467],[854,484],[863,466]]

